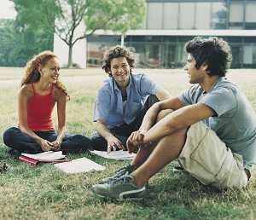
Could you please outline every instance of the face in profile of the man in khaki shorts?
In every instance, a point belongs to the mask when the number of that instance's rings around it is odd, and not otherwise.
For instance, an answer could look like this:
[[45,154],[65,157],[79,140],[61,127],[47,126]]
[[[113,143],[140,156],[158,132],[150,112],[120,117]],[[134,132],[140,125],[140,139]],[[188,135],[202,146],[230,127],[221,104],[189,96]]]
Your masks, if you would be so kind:
[[205,71],[203,71],[203,68],[200,67],[199,69],[197,69],[195,67],[195,64],[196,64],[195,58],[191,54],[189,54],[184,70],[189,74],[190,84],[202,83],[206,75]]

